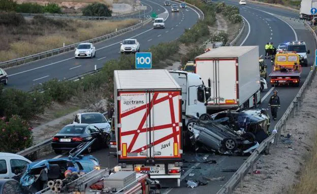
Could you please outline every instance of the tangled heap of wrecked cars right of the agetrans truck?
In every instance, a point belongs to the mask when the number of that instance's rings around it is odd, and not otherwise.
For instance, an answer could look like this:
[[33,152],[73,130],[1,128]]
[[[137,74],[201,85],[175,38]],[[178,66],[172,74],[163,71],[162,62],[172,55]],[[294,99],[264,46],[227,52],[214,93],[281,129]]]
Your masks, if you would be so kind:
[[252,153],[266,137],[270,118],[266,109],[202,114],[188,122],[189,139],[196,150],[221,154]]

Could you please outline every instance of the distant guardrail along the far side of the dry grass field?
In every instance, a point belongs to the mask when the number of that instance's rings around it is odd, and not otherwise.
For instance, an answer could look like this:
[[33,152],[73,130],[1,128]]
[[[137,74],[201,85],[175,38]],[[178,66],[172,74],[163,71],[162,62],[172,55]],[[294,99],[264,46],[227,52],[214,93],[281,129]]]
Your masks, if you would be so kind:
[[34,16],[44,16],[50,18],[64,18],[64,19],[81,19],[81,20],[112,20],[112,19],[121,19],[121,18],[137,18],[139,16],[133,16],[134,14],[139,13],[139,11],[134,11],[128,14],[116,15],[116,16],[79,16],[79,15],[68,15],[68,14],[31,14],[31,13],[17,13],[23,17],[34,17]]

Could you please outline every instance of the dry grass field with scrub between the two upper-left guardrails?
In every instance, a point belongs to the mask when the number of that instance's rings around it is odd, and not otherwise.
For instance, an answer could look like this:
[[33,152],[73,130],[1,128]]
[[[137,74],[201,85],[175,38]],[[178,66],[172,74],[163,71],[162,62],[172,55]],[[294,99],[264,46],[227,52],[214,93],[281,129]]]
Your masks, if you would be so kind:
[[55,20],[41,16],[26,20],[0,15],[0,61],[36,54],[102,36],[138,23],[123,21]]

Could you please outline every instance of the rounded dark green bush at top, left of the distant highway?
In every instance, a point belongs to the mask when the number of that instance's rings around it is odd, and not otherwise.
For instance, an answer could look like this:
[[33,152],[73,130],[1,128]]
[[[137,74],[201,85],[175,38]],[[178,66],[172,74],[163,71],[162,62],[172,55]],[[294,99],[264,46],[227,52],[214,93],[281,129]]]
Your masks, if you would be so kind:
[[106,16],[110,17],[112,11],[109,10],[108,6],[101,3],[93,3],[86,6],[82,10],[83,16]]

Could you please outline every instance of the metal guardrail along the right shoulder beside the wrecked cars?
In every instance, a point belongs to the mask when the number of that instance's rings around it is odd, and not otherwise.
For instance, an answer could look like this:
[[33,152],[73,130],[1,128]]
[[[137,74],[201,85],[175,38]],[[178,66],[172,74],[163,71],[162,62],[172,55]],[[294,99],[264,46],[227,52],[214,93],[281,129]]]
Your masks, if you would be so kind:
[[[308,29],[313,34],[315,42],[317,43],[317,36],[315,32],[309,25]],[[217,192],[217,194],[232,193],[233,189],[239,182],[241,183],[241,187],[243,187],[243,179],[248,171],[250,172],[251,176],[253,176],[254,164],[258,161],[259,157],[261,156],[261,153],[263,151],[265,151],[265,153],[269,152],[272,140],[274,140],[274,144],[277,145],[277,142],[279,141],[281,135],[281,130],[286,130],[286,124],[288,123],[290,117],[294,118],[295,111],[297,112],[299,107],[302,106],[302,100],[305,97],[305,92],[307,88],[310,87],[315,74],[316,68],[312,66],[311,71],[309,72],[303,86],[298,91],[298,94],[291,102],[285,113],[282,115],[281,119],[274,126],[274,130],[276,130],[277,133],[271,134],[268,138],[261,142],[261,144],[255,150],[255,152],[253,152],[251,156],[249,156],[249,158],[241,165],[241,167],[234,173],[234,175],[228,180],[228,182]]]

